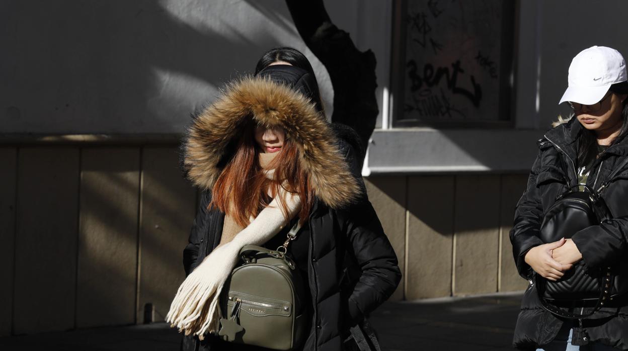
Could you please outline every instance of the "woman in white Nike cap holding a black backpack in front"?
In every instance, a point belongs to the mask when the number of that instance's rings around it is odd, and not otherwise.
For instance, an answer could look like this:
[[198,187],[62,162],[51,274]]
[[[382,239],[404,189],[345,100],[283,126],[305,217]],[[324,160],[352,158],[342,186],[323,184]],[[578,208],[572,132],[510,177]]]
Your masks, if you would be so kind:
[[[571,62],[560,103],[573,114],[539,140],[510,233],[519,274],[530,281],[516,348],[628,349],[627,80],[625,60],[612,48],[593,46]],[[586,201],[577,200],[578,193],[586,193]],[[559,204],[565,198],[591,206],[595,216],[605,203],[606,217],[578,230],[566,229],[568,216],[552,217],[560,234],[548,240],[548,216],[568,208]],[[590,286],[583,288],[583,281]],[[597,295],[585,296],[587,289]]]

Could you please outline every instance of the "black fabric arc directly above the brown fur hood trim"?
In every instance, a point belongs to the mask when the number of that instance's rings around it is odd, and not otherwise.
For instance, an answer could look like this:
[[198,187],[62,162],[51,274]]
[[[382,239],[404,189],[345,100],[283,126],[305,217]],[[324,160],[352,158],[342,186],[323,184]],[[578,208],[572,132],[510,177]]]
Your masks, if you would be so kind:
[[274,82],[288,85],[314,102],[318,111],[323,111],[316,77],[306,70],[291,65],[271,65],[259,71],[257,77],[268,77]]

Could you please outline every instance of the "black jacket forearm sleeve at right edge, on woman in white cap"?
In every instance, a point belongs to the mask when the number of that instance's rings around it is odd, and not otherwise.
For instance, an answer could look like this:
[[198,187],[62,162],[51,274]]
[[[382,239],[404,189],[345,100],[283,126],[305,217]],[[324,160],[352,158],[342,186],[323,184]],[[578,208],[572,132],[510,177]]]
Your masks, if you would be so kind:
[[628,241],[628,217],[605,220],[580,230],[571,237],[587,267],[608,266],[624,255]]

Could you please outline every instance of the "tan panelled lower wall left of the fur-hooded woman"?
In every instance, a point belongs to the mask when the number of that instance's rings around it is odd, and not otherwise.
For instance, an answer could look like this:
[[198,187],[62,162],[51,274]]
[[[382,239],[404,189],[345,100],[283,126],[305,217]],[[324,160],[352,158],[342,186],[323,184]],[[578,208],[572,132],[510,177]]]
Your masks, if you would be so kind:
[[[146,303],[154,306],[156,320],[163,320],[184,279],[182,252],[197,202],[178,169],[176,151],[173,146],[20,149],[19,163],[26,166],[10,166],[22,183],[16,276],[9,281],[14,313],[12,321],[5,315],[2,325],[13,325],[9,330],[19,334],[141,323]],[[58,166],[63,152],[80,159]],[[29,192],[31,183],[42,186]],[[64,198],[68,190],[77,193]],[[55,205],[40,210],[33,203]],[[28,279],[42,274],[37,281]],[[32,303],[28,296],[48,281],[56,293]],[[33,315],[36,322],[28,317]]]

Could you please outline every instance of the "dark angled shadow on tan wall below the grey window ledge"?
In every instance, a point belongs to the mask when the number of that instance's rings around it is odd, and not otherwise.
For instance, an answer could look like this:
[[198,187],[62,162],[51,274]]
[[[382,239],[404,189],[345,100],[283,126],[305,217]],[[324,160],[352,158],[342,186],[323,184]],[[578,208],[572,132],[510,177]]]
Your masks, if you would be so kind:
[[376,207],[407,210],[411,219],[420,220],[431,232],[450,235],[512,225],[528,175],[375,175],[367,179],[376,189],[376,198],[371,198]]

